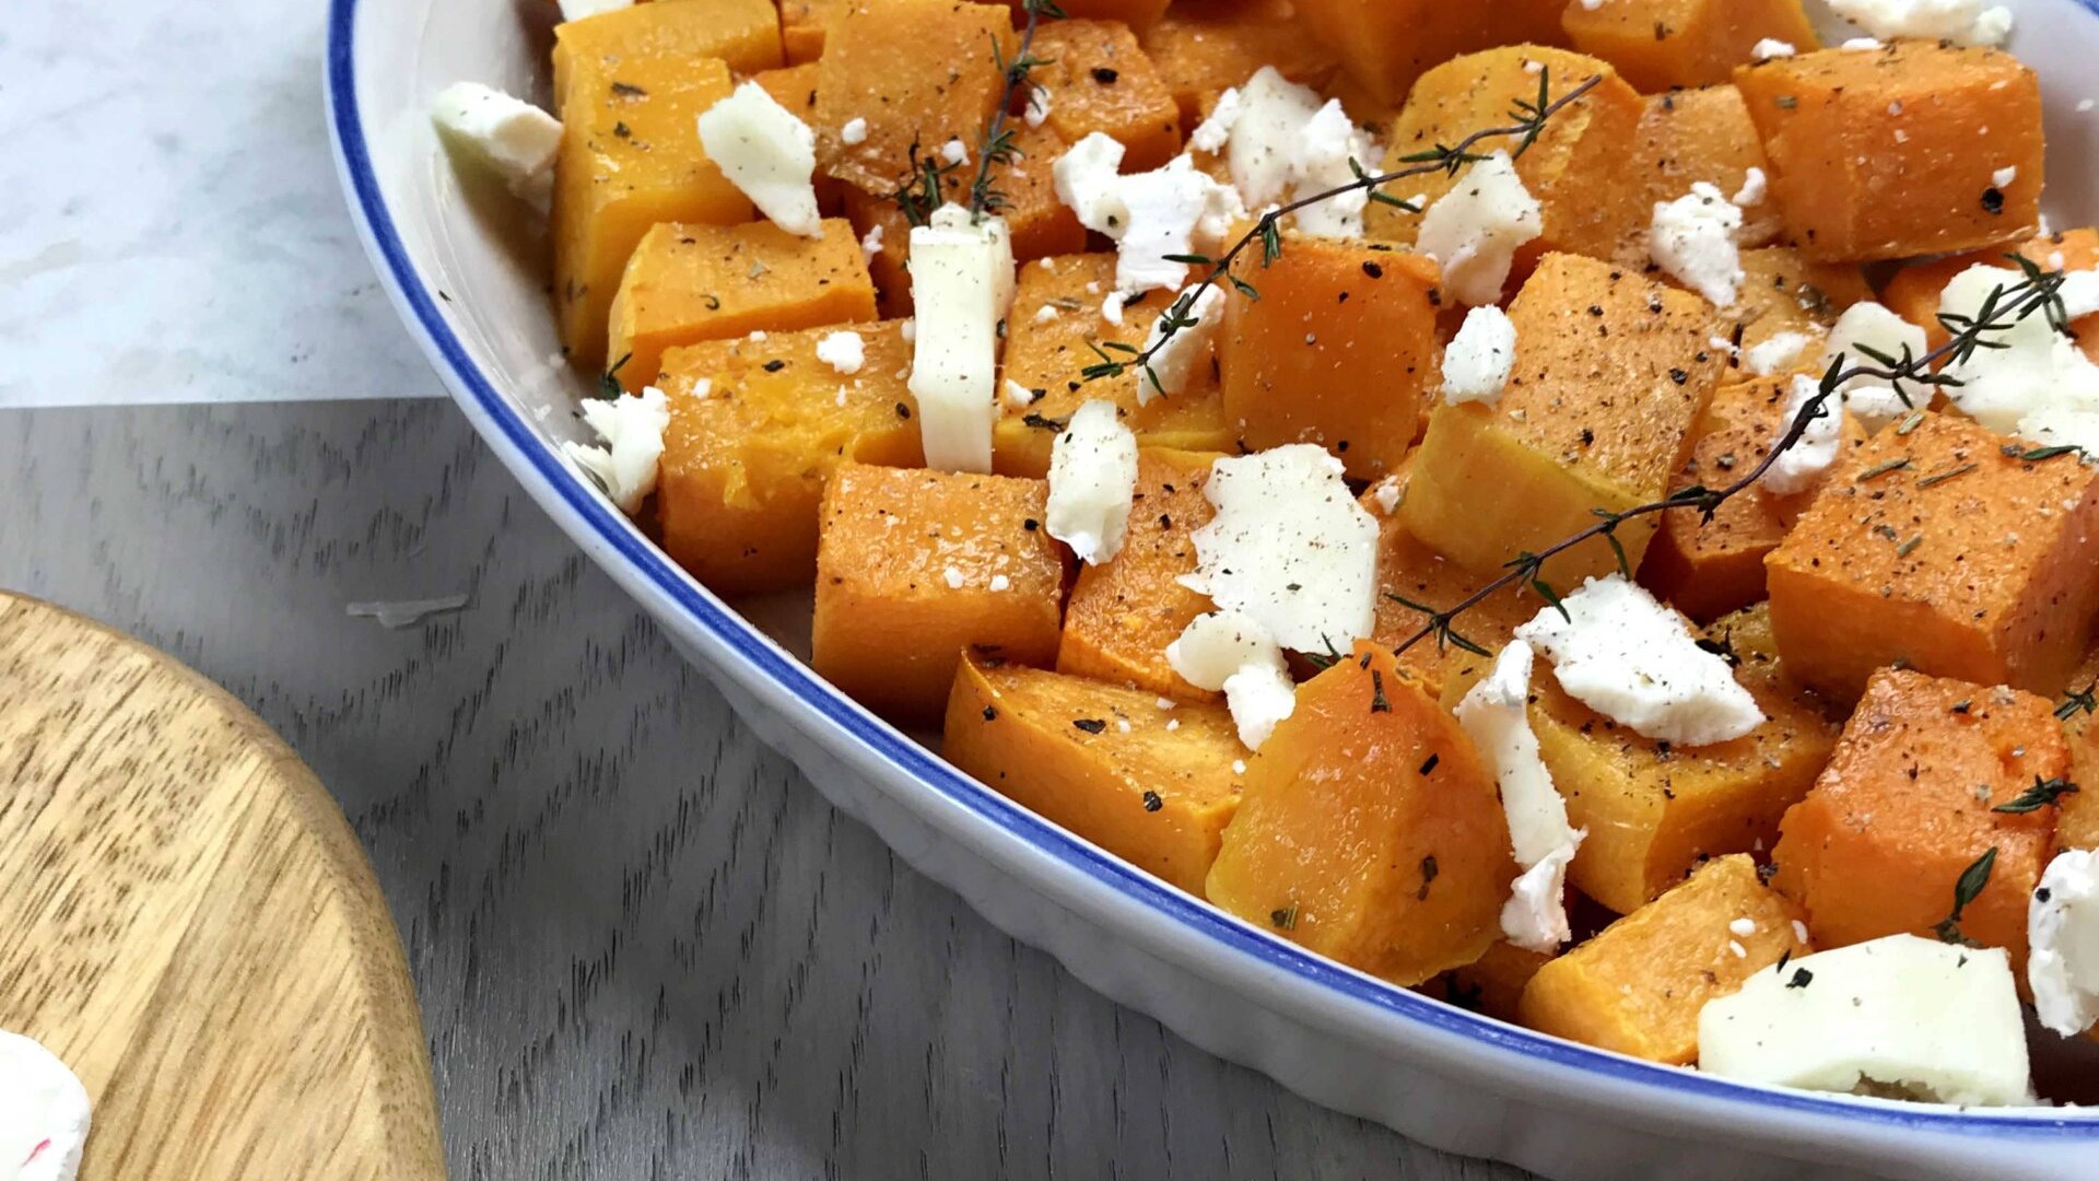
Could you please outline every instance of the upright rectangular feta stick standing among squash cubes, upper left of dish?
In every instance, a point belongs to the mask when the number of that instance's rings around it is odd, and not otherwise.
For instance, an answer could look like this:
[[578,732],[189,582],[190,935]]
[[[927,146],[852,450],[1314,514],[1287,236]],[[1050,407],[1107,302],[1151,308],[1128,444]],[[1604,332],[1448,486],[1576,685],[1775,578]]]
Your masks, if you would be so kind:
[[999,319],[1014,298],[1014,242],[1003,219],[976,221],[940,206],[911,229],[915,330],[911,395],[919,408],[926,467],[991,471],[999,414]]

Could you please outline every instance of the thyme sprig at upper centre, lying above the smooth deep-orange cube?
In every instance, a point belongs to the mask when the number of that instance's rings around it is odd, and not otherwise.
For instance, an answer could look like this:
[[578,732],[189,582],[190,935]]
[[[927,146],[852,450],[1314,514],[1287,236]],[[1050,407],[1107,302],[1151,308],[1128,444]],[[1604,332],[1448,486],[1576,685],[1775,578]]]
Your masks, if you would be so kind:
[[[1136,345],[1125,345],[1121,340],[1104,340],[1102,345],[1094,347],[1094,353],[1100,357],[1100,361],[1081,370],[1081,376],[1091,382],[1102,378],[1117,378],[1127,374],[1129,370],[1138,370],[1146,374],[1146,378],[1152,382],[1154,389],[1159,389],[1159,376],[1152,372],[1152,357],[1157,357],[1159,351],[1165,349],[1175,334],[1180,334],[1184,328],[1196,322],[1190,315],[1190,309],[1194,309],[1194,301],[1201,298],[1203,292],[1215,288],[1217,284],[1230,282],[1232,290],[1236,290],[1238,294],[1247,298],[1261,298],[1261,292],[1253,284],[1232,273],[1232,265],[1238,263],[1238,256],[1251,250],[1255,244],[1261,246],[1264,267],[1280,258],[1285,216],[1291,216],[1299,210],[1312,208],[1322,202],[1331,202],[1335,198],[1343,198],[1354,191],[1366,191],[1369,198],[1381,206],[1392,206],[1404,212],[1421,212],[1421,208],[1415,206],[1413,202],[1402,202],[1392,193],[1381,193],[1379,189],[1396,181],[1427,177],[1432,172],[1448,172],[1455,177],[1459,168],[1486,160],[1486,153],[1473,149],[1490,139],[1513,139],[1515,145],[1509,149],[1509,158],[1511,160],[1520,158],[1539,141],[1541,134],[1545,134],[1545,124],[1549,124],[1553,116],[1557,116],[1562,109],[1578,101],[1583,95],[1587,95],[1602,82],[1604,82],[1602,74],[1591,76],[1581,86],[1574,86],[1572,90],[1555,99],[1551,92],[1551,69],[1541,69],[1536,101],[1518,99],[1515,105],[1509,109],[1511,122],[1507,126],[1482,128],[1457,141],[1455,145],[1438,143],[1436,147],[1402,156],[1400,164],[1406,166],[1394,172],[1366,172],[1360,164],[1350,160],[1350,170],[1356,172],[1354,181],[1320,193],[1295,198],[1289,204],[1264,212],[1253,223],[1253,229],[1241,235],[1241,240],[1234,242],[1224,254],[1215,258],[1209,258],[1205,254],[1175,256],[1173,258],[1175,263],[1188,263],[1190,267],[1209,267],[1209,273],[1203,275],[1203,279],[1199,279],[1194,286],[1182,290],[1180,298],[1173,301],[1173,307],[1167,309],[1167,315],[1161,317],[1154,340],[1150,340],[1144,349],[1138,349]],[[1110,353],[1119,353],[1121,357],[1115,357]]]

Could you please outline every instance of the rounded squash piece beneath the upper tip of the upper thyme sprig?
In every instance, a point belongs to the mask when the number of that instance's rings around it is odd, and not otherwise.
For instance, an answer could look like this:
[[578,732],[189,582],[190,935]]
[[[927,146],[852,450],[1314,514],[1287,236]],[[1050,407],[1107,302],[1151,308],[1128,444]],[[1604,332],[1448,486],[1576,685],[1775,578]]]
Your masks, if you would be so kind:
[[[1528,271],[1541,254],[1564,250],[1591,258],[1610,258],[1618,244],[1654,219],[1644,206],[1646,174],[1627,160],[1639,141],[1639,120],[1646,103],[1604,61],[1543,46],[1505,46],[1459,57],[1421,76],[1400,118],[1385,137],[1385,170],[1408,168],[1408,156],[1455,145],[1467,134],[1509,124],[1509,107],[1539,99],[1541,71],[1549,71],[1553,95],[1581,86],[1591,76],[1602,82],[1562,109],[1530,149],[1515,162],[1515,174],[1539,200],[1545,231],[1518,254],[1518,273]],[[1484,143],[1480,151],[1513,147]],[[1423,195],[1421,208],[1436,204],[1463,183],[1434,170],[1404,183],[1396,195]],[[1413,242],[1421,214],[1396,206],[1371,204],[1364,214],[1371,237]]]

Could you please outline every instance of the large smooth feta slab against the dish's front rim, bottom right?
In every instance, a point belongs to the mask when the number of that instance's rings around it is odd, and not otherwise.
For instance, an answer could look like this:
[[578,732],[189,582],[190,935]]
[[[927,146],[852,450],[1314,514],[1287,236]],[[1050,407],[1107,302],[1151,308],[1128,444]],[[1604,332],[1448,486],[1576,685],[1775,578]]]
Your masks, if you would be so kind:
[[1698,1011],[1698,1070],[1939,1103],[2026,1103],[2019,992],[2002,948],[1889,935],[1795,956]]

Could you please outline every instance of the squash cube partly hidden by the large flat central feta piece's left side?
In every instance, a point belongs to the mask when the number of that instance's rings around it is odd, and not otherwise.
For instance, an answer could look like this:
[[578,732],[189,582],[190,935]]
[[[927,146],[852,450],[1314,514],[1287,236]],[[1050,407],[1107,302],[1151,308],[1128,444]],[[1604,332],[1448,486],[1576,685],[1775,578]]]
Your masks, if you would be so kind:
[[1217,452],[1138,452],[1138,492],[1123,548],[1115,561],[1079,572],[1070,603],[1064,605],[1058,672],[1133,685],[1184,702],[1217,698],[1196,689],[1167,664],[1167,645],[1211,609],[1209,595],[1196,595],[1178,580],[1194,574],[1190,534],[1217,515],[1203,496],[1209,464],[1217,458]]

